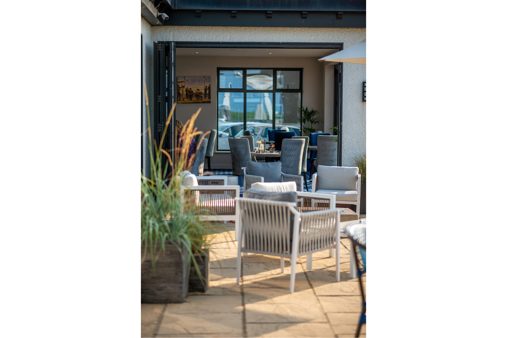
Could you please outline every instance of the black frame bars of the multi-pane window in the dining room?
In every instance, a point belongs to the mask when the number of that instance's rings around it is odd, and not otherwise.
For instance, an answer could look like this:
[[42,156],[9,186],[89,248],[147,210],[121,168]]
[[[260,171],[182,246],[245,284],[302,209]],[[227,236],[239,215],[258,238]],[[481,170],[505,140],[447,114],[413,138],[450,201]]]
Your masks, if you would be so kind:
[[[272,70],[273,71],[273,89],[270,90],[254,90],[254,89],[246,89],[246,71],[252,69],[261,69],[261,70]],[[241,89],[238,88],[220,88],[220,71],[221,70],[242,70],[243,71],[243,85]],[[276,71],[277,70],[288,70],[288,71],[299,71],[299,89],[277,89],[276,88]],[[272,128],[275,129],[275,102],[276,102],[276,93],[301,93],[300,99],[300,107],[303,106],[303,68],[280,68],[280,67],[216,67],[216,128],[219,128],[219,93],[243,93],[243,130],[246,130],[246,93],[272,93],[273,94],[273,120],[272,120]],[[299,112],[299,117],[301,118],[301,111]],[[299,122],[299,130],[301,133],[302,128],[301,121]],[[218,137],[218,135],[217,135]],[[217,141],[216,152],[229,152],[229,149],[219,149],[220,143]]]

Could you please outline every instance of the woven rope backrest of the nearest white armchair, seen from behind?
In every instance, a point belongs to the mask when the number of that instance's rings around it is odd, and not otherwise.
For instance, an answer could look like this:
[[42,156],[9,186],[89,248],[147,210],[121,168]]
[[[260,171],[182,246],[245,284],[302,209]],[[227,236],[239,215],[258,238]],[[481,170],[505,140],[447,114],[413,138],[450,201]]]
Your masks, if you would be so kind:
[[238,204],[242,249],[289,257],[294,217],[298,217],[294,203],[241,198]]

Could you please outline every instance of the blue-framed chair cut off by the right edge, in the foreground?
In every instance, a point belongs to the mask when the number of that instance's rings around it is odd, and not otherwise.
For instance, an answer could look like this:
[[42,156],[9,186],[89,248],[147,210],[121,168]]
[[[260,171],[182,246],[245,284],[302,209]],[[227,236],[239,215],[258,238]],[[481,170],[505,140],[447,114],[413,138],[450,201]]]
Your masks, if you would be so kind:
[[[363,326],[363,324],[366,324],[366,298],[365,290],[363,288],[363,281],[361,281],[361,276],[366,273],[366,223],[363,222],[366,221],[363,220],[361,223],[349,224],[345,228],[345,233],[352,243],[352,252],[355,256],[355,266],[357,269],[357,277],[359,279],[359,289],[361,290],[361,299],[363,301],[363,309],[361,309],[361,314],[359,315],[359,323],[355,332],[356,337],[359,336],[361,326]],[[357,259],[356,247],[359,248],[359,254],[361,256],[361,261],[363,262],[363,269],[359,268],[359,260]],[[352,252],[350,254],[352,254]]]

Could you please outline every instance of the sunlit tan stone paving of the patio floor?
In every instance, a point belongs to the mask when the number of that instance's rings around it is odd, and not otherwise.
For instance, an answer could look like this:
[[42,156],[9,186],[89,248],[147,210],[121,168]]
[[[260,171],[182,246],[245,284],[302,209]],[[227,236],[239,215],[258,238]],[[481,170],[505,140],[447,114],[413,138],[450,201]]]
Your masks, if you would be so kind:
[[[350,241],[341,240],[340,282],[329,250],[298,257],[295,292],[289,293],[291,264],[285,258],[242,256],[236,284],[234,227],[209,235],[210,280],[206,293],[189,293],[182,304],[141,304],[142,337],[353,337],[361,310],[359,283],[351,279]],[[366,290],[366,276],[362,277]],[[164,311],[165,309],[165,311]],[[360,337],[366,336],[366,327]]]

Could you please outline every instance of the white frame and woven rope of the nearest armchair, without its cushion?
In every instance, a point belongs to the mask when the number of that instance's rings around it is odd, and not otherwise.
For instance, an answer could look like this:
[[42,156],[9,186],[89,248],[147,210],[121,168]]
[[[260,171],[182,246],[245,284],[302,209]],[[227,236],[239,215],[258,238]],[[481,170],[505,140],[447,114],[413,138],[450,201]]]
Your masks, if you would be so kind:
[[[307,193],[308,194],[308,193]],[[241,278],[241,252],[253,252],[280,257],[280,268],[283,273],[284,258],[291,259],[291,282],[289,290],[294,292],[296,281],[297,258],[311,255],[313,252],[336,246],[340,250],[340,213],[337,209],[320,210],[299,213],[295,207],[297,203],[259,200],[253,198],[236,198],[236,205],[240,210],[240,223],[248,224],[238,227],[238,257],[236,261],[236,283]],[[243,210],[248,209],[248,213]],[[277,216],[273,217],[273,213]],[[290,237],[290,214],[294,215],[292,250],[286,247]],[[268,216],[269,215],[269,216]],[[278,221],[276,221],[278,220]],[[280,221],[281,220],[281,221]],[[275,223],[276,222],[276,223]],[[245,228],[245,229],[243,229]],[[300,231],[303,230],[303,231]],[[249,238],[258,240],[246,241]],[[262,237],[270,232],[271,242]],[[246,247],[248,245],[248,248]],[[311,266],[311,260],[310,260]],[[336,255],[336,279],[340,281],[340,255]]]

